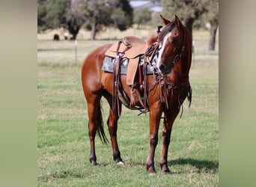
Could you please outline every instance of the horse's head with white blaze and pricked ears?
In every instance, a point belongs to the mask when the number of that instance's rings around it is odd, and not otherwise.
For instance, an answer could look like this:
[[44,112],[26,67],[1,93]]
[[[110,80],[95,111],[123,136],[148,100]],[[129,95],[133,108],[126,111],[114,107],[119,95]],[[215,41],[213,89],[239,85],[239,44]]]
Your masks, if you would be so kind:
[[161,19],[165,24],[165,28],[159,34],[159,55],[156,67],[160,73],[168,74],[183,52],[186,37],[185,28],[177,16],[175,16],[174,21],[165,19],[162,16]]

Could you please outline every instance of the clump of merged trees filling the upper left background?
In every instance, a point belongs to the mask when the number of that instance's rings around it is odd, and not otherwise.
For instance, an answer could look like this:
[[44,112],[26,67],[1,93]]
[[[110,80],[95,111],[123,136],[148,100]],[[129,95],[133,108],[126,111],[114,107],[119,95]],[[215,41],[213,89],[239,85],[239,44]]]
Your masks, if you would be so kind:
[[91,40],[103,26],[124,31],[132,25],[132,7],[128,0],[37,0],[38,31],[64,27],[76,40],[83,25],[91,30]]

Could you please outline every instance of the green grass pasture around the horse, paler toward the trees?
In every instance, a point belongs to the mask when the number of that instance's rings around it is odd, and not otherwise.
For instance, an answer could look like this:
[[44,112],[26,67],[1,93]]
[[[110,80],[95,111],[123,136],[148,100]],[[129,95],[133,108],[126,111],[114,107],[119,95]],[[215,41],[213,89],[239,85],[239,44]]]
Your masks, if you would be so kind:
[[[126,35],[126,33],[123,33]],[[113,40],[37,43],[37,181],[38,186],[218,186],[219,50],[207,52],[209,33],[195,31],[195,56],[190,71],[192,105],[184,102],[183,116],[174,122],[168,165],[159,170],[161,138],[156,147],[157,174],[147,174],[148,120],[124,108],[118,143],[126,165],[112,160],[111,145],[96,138],[96,167],[89,163],[88,116],[80,80],[82,59],[97,46]],[[102,36],[106,38],[106,36]],[[140,36],[138,36],[140,37]],[[103,119],[109,106],[103,99]],[[160,126],[159,132],[162,132]],[[109,134],[107,133],[108,137]]]

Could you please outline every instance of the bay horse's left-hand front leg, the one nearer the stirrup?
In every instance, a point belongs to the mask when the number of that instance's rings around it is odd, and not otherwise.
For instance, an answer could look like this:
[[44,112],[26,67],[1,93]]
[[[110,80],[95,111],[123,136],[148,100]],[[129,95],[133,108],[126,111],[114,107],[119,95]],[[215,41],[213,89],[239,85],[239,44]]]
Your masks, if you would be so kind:
[[150,106],[150,149],[147,156],[147,171],[149,174],[156,174],[154,166],[154,155],[158,142],[158,130],[162,112],[159,111],[159,103]]

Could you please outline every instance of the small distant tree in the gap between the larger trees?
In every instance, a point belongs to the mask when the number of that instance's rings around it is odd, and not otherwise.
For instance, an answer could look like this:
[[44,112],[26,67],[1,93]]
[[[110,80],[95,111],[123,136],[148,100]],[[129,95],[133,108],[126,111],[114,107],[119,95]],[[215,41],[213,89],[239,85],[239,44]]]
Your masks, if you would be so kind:
[[139,8],[134,10],[133,23],[138,25],[144,25],[151,20],[151,11],[147,8]]

